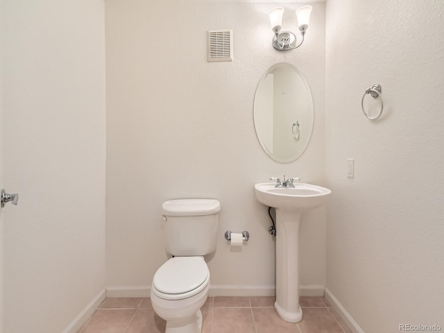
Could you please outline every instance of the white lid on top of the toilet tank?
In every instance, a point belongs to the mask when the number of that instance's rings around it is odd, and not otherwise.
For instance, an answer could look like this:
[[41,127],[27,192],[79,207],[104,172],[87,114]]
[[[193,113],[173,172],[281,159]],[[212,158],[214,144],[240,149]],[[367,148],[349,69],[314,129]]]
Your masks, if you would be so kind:
[[211,215],[221,211],[221,203],[216,199],[176,199],[165,201],[162,210],[169,216]]

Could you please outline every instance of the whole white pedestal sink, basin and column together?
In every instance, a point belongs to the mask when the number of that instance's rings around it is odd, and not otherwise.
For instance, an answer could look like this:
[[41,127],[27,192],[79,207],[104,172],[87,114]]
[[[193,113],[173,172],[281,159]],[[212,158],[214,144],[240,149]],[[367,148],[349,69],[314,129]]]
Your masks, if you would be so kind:
[[302,212],[327,203],[332,193],[325,187],[296,183],[275,187],[274,182],[255,185],[260,203],[276,210],[276,302],[275,309],[285,321],[302,320],[299,305],[298,244]]

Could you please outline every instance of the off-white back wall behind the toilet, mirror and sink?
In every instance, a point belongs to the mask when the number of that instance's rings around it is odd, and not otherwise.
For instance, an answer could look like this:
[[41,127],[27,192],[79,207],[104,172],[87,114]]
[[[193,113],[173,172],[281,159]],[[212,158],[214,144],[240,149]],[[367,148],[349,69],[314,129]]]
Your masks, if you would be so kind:
[[[203,197],[222,207],[212,285],[273,292],[271,221],[253,185],[283,174],[324,183],[325,4],[314,4],[304,45],[279,52],[267,15],[279,3],[211,2],[105,1],[109,289],[150,287],[167,260],[162,202]],[[296,31],[300,4],[282,5],[283,29]],[[219,28],[233,31],[232,62],[207,62],[206,32]],[[257,83],[277,62],[296,65],[314,98],[311,142],[290,164],[262,151],[253,125]],[[226,230],[250,232],[241,252]],[[325,210],[307,214],[300,233],[300,283],[324,285]]]

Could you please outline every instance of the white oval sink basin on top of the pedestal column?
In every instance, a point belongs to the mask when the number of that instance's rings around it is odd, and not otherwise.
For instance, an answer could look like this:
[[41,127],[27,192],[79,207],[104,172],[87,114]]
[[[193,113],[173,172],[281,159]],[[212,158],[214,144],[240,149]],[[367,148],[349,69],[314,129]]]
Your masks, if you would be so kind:
[[255,194],[259,203],[268,207],[305,212],[327,203],[327,196],[332,191],[325,187],[295,183],[295,187],[275,187],[275,182],[262,182],[255,185]]

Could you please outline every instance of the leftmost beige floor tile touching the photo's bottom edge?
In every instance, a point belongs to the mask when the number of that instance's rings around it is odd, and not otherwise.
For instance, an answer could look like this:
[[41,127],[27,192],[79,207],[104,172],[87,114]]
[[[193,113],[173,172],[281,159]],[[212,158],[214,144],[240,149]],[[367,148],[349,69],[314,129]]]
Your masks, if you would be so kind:
[[135,310],[102,310],[96,311],[89,323],[81,330],[81,333],[123,333],[130,323]]

